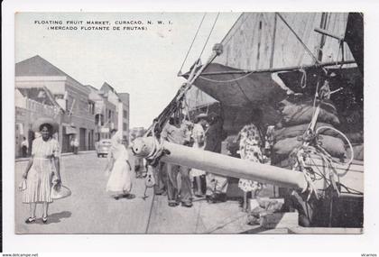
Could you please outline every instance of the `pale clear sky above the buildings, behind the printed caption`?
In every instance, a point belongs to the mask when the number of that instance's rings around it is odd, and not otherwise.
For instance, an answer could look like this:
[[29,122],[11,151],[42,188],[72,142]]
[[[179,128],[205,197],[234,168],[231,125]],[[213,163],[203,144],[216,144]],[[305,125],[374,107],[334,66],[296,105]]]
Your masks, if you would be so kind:
[[[217,18],[217,13],[206,14],[183,73],[199,59],[216,18],[201,56],[203,62],[239,15],[220,13]],[[130,127],[148,127],[185,81],[177,74],[203,16],[204,13],[18,13],[15,61],[40,55],[83,85],[100,88],[107,82],[117,92],[130,94]],[[110,30],[89,30],[107,25],[94,22],[108,22]],[[124,29],[139,22],[142,24],[136,26],[145,30]],[[77,30],[48,29],[51,26],[76,26]],[[120,30],[114,30],[116,26]]]

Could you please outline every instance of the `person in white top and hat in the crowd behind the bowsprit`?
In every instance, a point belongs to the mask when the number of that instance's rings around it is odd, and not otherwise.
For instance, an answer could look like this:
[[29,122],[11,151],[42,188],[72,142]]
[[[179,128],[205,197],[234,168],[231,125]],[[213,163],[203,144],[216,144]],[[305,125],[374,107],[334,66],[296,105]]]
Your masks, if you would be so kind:
[[[195,117],[195,124],[192,129],[192,138],[194,148],[204,150],[205,148],[205,130],[208,125],[208,115],[199,114]],[[192,169],[190,171],[194,179],[194,193],[196,197],[203,197],[207,188],[206,172],[204,170]]]

